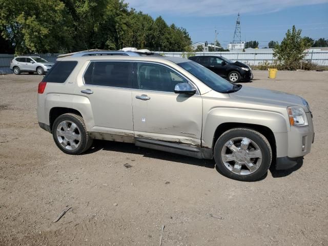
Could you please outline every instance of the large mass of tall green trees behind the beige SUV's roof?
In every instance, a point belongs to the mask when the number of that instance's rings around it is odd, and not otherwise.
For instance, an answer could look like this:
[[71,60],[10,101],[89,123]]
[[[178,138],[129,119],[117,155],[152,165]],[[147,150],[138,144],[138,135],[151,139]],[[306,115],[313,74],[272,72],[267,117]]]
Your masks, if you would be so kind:
[[186,29],[129,9],[122,0],[0,0],[0,6],[0,53],[185,51],[191,45]]

